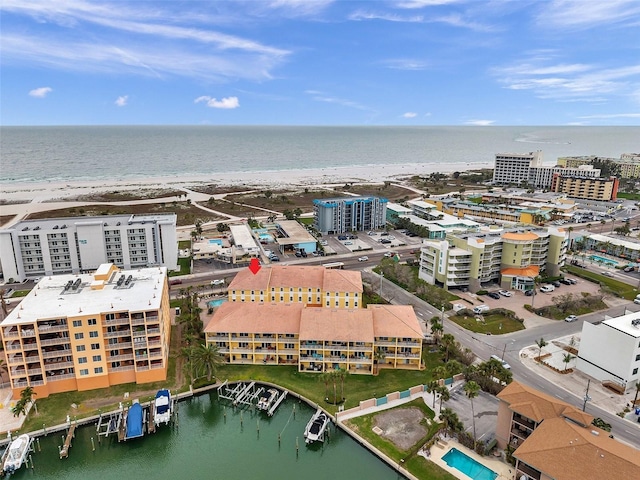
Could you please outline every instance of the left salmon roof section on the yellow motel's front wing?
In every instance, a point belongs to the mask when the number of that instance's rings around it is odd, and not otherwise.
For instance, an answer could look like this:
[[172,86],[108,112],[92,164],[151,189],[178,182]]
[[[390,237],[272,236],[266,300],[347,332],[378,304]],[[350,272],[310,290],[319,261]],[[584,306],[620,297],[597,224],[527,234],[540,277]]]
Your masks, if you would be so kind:
[[302,304],[225,302],[205,333],[298,333]]

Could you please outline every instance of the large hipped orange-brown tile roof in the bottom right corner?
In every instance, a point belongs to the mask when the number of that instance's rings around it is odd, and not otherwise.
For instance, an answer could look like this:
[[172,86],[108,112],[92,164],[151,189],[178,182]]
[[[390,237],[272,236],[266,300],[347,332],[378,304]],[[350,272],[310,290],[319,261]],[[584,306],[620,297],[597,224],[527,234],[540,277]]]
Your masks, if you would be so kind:
[[564,418],[543,421],[514,456],[554,480],[640,478],[640,451]]

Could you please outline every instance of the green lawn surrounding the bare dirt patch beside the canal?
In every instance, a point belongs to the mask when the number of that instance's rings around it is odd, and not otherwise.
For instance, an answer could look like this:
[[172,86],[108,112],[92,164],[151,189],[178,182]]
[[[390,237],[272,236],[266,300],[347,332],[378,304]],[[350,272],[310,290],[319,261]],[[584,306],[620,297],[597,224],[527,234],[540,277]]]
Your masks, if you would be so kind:
[[[422,399],[416,399],[402,406],[395,407],[394,410],[409,407],[419,408],[424,412],[424,416],[426,418],[429,418],[430,420],[433,420],[435,417],[433,410],[425,405]],[[369,415],[352,418],[350,420],[347,420],[345,424],[354,432],[357,432],[358,435],[367,440],[371,445],[384,452],[385,455],[387,455],[397,464],[400,463],[401,460],[403,460],[404,467],[418,478],[425,478],[429,480],[450,480],[456,478],[437,466],[435,463],[430,462],[416,454],[418,449],[437,433],[439,429],[439,424],[437,421],[432,422],[430,425],[428,425],[426,421],[423,421],[423,425],[427,428],[427,434],[409,450],[400,450],[393,442],[383,438],[380,435],[376,435],[373,432],[376,415],[378,415],[378,413],[372,413]]]

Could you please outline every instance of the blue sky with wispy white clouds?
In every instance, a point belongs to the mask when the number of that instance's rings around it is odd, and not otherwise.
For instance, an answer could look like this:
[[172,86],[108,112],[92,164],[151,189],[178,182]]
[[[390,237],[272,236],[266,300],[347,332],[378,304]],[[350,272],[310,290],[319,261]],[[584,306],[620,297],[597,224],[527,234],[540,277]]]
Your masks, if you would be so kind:
[[640,1],[2,0],[2,125],[639,125]]

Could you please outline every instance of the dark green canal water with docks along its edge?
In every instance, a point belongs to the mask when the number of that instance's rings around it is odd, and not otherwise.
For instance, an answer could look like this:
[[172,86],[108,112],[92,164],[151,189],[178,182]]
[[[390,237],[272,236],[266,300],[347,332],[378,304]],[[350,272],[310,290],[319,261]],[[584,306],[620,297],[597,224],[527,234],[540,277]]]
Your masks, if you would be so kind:
[[212,392],[179,402],[177,424],[163,425],[156,433],[135,440],[118,443],[112,436],[98,444],[95,425],[81,427],[76,430],[66,459],[60,460],[58,456],[64,432],[40,437],[40,451],[34,442],[34,468],[23,466],[11,478],[399,478],[397,472],[333,425],[324,444],[305,445],[303,432],[313,413],[308,405],[289,397],[273,417],[267,417],[262,412],[225,406]]

